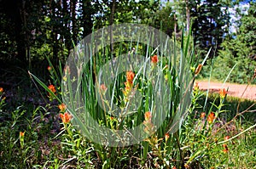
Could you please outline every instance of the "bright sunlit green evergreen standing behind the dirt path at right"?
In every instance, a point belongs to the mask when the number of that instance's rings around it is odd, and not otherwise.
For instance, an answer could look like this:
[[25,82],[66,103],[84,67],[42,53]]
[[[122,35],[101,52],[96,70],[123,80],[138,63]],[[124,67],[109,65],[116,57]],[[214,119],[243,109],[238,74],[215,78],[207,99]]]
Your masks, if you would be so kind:
[[230,75],[230,82],[246,83],[251,80],[253,70],[256,69],[256,4],[250,3],[247,12],[242,12],[242,8],[237,8],[236,12],[241,15],[241,19],[237,20],[238,29],[221,44],[212,75],[224,80],[236,65]]

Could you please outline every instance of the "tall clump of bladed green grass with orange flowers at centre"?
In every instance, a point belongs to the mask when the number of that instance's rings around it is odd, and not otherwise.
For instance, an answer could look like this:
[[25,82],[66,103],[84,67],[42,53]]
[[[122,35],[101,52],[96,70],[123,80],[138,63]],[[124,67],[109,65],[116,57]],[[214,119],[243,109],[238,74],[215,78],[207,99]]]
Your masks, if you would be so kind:
[[183,36],[177,45],[161,31],[125,26],[113,27],[114,44],[108,29],[80,42],[61,79],[53,70],[52,86],[31,75],[49,99],[66,106],[61,116],[72,119],[72,125],[63,121],[69,141],[75,142],[72,126],[93,144],[102,166],[182,166],[178,131],[194,82],[191,39]]

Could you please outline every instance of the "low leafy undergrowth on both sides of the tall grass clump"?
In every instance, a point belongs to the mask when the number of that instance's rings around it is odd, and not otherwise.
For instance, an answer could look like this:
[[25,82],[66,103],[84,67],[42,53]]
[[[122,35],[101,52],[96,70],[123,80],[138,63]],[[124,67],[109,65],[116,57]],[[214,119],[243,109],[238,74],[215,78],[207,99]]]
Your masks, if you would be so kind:
[[[9,102],[5,101],[6,92],[3,89],[0,106],[1,168],[108,168],[104,166],[107,162],[113,168],[158,168],[154,161],[157,155],[152,150],[148,151],[146,159],[141,158],[143,144],[99,149],[99,145],[91,143],[68,123],[68,130],[73,136],[70,138],[67,130],[62,128],[57,104],[34,106],[23,103],[16,109],[9,109]],[[240,102],[240,99],[228,96],[224,102],[224,114],[213,125],[211,134],[206,136],[204,132],[207,132],[207,127],[202,125],[207,119],[202,119],[201,114],[205,99],[205,95],[202,95],[198,101],[200,104],[197,104],[201,106],[189,114],[183,125],[185,139],[180,146],[183,160],[190,160],[188,168],[253,168],[256,164],[255,127],[247,128],[255,125],[255,103],[251,100]],[[218,104],[218,94],[210,94],[206,112],[210,112],[213,100]],[[239,111],[236,110],[238,104]],[[249,107],[251,109],[247,110]],[[212,108],[213,112],[215,110]],[[247,112],[238,115],[243,110]],[[232,138],[234,136],[236,138]],[[220,144],[226,138],[232,139]],[[163,138],[161,146],[165,146],[167,139]],[[106,161],[102,161],[100,153],[106,156]],[[165,155],[165,151],[161,153]],[[166,161],[169,161],[167,164],[170,168],[177,164],[172,156],[167,157]]]

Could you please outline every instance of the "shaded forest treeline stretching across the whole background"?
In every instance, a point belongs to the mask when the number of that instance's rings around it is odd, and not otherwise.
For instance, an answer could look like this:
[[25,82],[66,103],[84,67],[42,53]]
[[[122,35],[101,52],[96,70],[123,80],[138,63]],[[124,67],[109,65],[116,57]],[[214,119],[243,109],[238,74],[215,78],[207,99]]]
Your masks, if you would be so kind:
[[[238,0],[0,0],[0,59],[2,67],[8,63],[40,70],[47,64],[45,56],[54,65],[65,63],[73,45],[105,25],[141,23],[179,37],[192,24],[198,59],[212,48],[210,57],[225,58],[229,67],[236,59],[248,62],[243,66],[248,73],[254,69],[255,1],[247,13],[237,9],[241,20],[230,22],[230,9],[243,3],[249,4]],[[235,34],[230,31],[233,25]],[[218,59],[215,63],[221,65]]]

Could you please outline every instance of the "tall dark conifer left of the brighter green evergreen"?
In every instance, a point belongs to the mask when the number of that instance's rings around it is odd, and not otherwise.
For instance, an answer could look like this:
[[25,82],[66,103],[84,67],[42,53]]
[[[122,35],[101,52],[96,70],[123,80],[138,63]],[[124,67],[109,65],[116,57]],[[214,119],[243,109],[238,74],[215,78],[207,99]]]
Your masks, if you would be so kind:
[[227,10],[229,6],[220,0],[199,0],[190,1],[189,8],[193,21],[192,29],[194,42],[198,50],[197,54],[203,58],[209,48],[212,48],[210,54],[210,58],[212,58],[214,53],[218,52],[224,40],[224,35],[229,31],[224,29],[224,26],[228,26],[230,20]]

